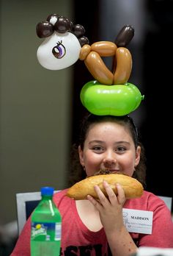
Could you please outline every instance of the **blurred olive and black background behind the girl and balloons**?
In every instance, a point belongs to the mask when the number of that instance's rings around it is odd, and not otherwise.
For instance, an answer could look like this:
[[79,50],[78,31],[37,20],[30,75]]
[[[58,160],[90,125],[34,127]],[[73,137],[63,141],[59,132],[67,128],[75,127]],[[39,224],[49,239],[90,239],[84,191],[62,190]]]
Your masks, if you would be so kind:
[[83,25],[90,44],[134,27],[129,82],[144,101],[130,115],[146,149],[147,190],[172,197],[173,1],[1,0],[0,12],[0,255],[15,244],[15,194],[67,188],[70,145],[85,113],[79,95],[93,79],[80,60],[59,71],[38,63],[36,25],[52,13]]

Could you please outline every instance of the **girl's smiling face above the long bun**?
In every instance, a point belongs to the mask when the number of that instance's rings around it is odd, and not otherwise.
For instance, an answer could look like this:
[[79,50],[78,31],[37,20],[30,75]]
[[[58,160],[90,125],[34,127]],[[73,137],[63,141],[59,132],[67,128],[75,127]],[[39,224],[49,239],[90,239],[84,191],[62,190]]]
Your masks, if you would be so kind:
[[85,167],[87,177],[97,171],[133,175],[140,160],[140,146],[135,149],[128,129],[121,124],[105,121],[92,124],[89,128],[84,150],[78,147],[80,163]]

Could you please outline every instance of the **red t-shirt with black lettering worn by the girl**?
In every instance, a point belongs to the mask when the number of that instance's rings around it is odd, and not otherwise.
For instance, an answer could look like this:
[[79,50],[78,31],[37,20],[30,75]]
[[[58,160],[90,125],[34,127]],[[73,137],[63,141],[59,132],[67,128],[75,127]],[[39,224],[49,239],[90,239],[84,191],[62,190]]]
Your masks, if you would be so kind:
[[[54,202],[62,216],[62,256],[111,255],[102,228],[92,232],[81,221],[73,199],[65,196],[67,190],[54,194]],[[173,222],[165,203],[153,193],[144,191],[139,199],[129,199],[124,208],[153,212],[152,235],[130,233],[137,246],[173,248]],[[30,218],[26,221],[18,242],[10,256],[30,256]]]

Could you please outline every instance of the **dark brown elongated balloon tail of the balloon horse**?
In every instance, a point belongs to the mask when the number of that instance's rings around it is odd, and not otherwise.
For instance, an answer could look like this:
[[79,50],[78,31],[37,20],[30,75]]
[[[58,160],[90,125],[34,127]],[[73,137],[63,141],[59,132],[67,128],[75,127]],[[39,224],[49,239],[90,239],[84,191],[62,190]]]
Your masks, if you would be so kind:
[[119,31],[117,38],[115,39],[115,43],[117,47],[125,47],[130,43],[134,36],[134,29],[133,26],[126,25],[123,26],[122,29]]

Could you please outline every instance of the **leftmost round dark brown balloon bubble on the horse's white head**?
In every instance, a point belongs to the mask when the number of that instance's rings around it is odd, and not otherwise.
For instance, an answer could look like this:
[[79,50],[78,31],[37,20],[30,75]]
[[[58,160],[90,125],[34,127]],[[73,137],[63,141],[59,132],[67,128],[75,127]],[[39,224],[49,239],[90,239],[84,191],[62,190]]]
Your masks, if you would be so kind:
[[39,38],[48,38],[54,33],[54,26],[48,21],[42,21],[37,24],[36,32]]

